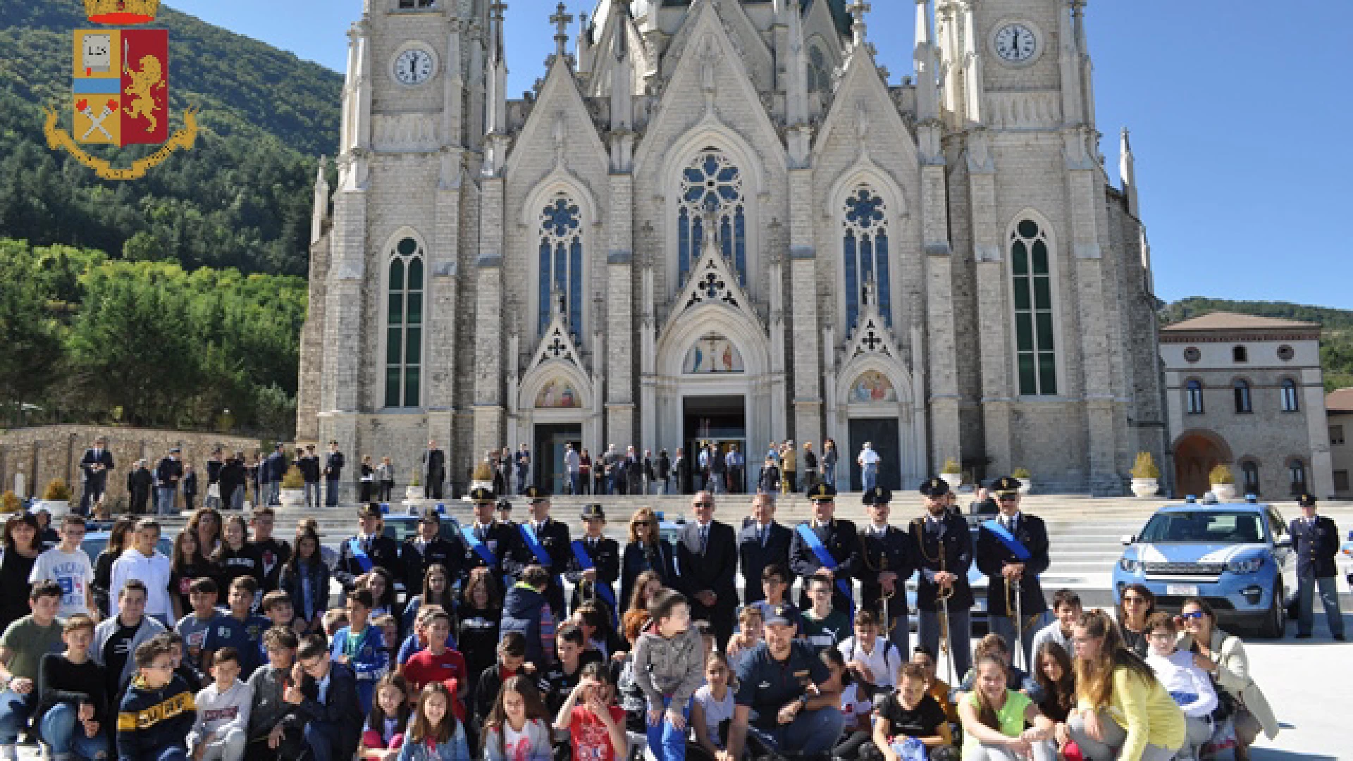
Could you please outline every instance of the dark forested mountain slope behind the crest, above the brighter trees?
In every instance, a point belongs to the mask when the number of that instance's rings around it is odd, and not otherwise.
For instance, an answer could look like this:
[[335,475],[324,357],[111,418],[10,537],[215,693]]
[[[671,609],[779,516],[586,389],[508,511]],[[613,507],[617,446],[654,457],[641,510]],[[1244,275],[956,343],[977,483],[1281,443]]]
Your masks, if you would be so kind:
[[[42,135],[43,104],[69,111],[70,31],[91,26],[80,0],[0,0],[0,236],[303,275],[315,158],[338,144],[342,77],[161,7],[172,129],[195,104],[202,131],[146,177],[106,181]],[[124,165],[150,150],[99,153]]]

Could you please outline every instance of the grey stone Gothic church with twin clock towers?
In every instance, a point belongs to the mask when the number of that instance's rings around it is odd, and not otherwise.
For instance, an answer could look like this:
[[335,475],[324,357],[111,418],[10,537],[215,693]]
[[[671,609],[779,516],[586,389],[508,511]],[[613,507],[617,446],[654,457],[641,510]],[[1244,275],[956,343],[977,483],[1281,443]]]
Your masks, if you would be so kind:
[[[525,444],[865,441],[1123,493],[1164,462],[1150,253],[1084,0],[597,0],[506,92],[505,4],[365,0],[321,169],[298,439],[464,485]],[[898,77],[875,45],[913,45]],[[530,62],[534,65],[534,61]],[[521,64],[525,65],[525,64]],[[802,450],[800,450],[802,451]],[[847,481],[848,478],[848,481]]]

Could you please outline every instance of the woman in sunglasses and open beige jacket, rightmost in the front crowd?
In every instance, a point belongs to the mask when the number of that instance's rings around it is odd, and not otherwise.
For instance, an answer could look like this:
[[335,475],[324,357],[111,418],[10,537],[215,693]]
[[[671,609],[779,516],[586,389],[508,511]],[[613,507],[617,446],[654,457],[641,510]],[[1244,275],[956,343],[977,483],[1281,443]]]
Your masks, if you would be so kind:
[[1177,650],[1192,651],[1193,665],[1211,674],[1223,707],[1234,707],[1235,761],[1247,761],[1260,731],[1273,739],[1279,727],[1268,699],[1250,677],[1245,643],[1216,628],[1216,613],[1200,597],[1185,600],[1176,620],[1180,624]]

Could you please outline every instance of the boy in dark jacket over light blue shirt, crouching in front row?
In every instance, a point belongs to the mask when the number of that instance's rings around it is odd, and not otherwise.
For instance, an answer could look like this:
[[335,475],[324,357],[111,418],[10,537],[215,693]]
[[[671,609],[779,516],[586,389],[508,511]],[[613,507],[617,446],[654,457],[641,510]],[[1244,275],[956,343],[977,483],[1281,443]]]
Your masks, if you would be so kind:
[[303,678],[283,693],[295,705],[283,722],[303,724],[307,761],[346,761],[357,752],[361,737],[361,703],[357,699],[357,676],[352,666],[329,658],[322,636],[300,643],[296,653]]

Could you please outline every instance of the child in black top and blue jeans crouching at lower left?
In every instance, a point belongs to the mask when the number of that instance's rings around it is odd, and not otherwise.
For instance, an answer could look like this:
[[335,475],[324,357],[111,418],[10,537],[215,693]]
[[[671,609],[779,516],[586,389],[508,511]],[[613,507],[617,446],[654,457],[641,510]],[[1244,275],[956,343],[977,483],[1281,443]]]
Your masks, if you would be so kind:
[[[62,524],[64,528],[65,524]],[[76,613],[61,627],[65,653],[47,653],[38,666],[42,739],[55,760],[97,758],[108,752],[108,696],[103,669],[89,659],[93,619]]]

